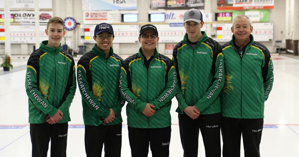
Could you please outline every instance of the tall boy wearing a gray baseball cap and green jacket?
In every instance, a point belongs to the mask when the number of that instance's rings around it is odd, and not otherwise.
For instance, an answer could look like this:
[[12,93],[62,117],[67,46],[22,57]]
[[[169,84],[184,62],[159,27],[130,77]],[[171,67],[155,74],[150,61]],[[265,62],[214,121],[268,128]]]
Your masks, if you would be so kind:
[[224,85],[220,44],[201,31],[202,13],[184,13],[186,34],[173,49],[178,73],[178,123],[184,157],[198,155],[201,131],[206,157],[220,157],[221,109],[219,94]]

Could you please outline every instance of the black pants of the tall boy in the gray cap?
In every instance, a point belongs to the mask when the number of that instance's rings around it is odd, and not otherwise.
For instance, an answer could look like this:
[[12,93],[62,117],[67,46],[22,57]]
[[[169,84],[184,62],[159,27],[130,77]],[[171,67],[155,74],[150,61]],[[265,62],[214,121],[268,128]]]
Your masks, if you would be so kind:
[[194,120],[187,114],[178,114],[178,124],[184,157],[197,157],[199,130],[202,134],[206,157],[221,156],[221,113],[199,115]]

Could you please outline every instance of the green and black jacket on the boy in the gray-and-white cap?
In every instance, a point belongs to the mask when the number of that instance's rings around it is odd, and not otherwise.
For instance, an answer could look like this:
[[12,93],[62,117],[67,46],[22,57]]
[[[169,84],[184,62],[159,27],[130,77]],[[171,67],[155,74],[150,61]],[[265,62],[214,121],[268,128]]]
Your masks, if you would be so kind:
[[223,54],[220,45],[206,36],[194,50],[188,45],[188,34],[173,49],[173,64],[178,73],[178,108],[176,112],[195,105],[201,114],[221,112],[220,97],[224,85]]

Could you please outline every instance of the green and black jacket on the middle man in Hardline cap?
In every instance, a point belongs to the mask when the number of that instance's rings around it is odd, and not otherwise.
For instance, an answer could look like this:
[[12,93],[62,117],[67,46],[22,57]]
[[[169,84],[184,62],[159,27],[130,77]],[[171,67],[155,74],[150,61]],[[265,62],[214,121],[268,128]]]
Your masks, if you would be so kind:
[[[139,52],[125,59],[121,67],[120,92],[128,102],[126,106],[128,126],[134,128],[164,128],[171,125],[171,99],[175,96],[176,71],[171,59],[158,53],[147,69],[144,56]],[[142,112],[146,103],[156,112],[146,117]]]

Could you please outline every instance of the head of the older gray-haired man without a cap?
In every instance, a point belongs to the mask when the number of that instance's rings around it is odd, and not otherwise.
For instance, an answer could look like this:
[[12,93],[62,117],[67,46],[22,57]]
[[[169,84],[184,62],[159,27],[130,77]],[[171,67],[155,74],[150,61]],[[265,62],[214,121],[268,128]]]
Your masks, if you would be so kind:
[[250,41],[250,33],[253,31],[253,26],[250,25],[250,21],[245,16],[236,17],[231,27],[231,32],[235,36],[235,41],[238,43],[246,43]]

